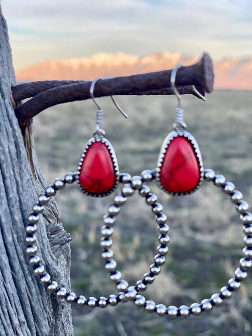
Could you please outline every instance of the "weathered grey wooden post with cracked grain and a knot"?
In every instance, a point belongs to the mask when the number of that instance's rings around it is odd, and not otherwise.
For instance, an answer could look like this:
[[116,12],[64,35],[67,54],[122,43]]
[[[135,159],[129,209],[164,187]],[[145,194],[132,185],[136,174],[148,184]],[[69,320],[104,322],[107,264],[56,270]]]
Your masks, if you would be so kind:
[[[0,9],[0,334],[72,335],[71,307],[46,292],[28,266],[25,224],[36,192],[42,192],[46,183],[34,150],[31,122],[22,137],[14,113],[14,85],[7,25]],[[38,237],[48,270],[68,286],[71,237],[59,222],[55,203],[40,221]]]

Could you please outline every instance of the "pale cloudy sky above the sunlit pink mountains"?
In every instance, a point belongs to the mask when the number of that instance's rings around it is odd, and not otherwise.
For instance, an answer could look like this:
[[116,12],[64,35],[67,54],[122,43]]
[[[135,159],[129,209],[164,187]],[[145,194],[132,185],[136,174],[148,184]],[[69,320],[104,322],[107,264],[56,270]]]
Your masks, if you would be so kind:
[[16,70],[100,52],[252,56],[251,0],[0,1]]

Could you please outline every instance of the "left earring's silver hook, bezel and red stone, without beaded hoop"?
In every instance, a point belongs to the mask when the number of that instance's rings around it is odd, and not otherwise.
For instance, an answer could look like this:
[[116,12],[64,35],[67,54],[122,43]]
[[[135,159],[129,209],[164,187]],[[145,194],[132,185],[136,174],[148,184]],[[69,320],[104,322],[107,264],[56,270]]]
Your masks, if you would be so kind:
[[[90,139],[80,158],[77,183],[82,192],[92,197],[104,197],[112,193],[119,183],[119,168],[114,149],[104,137],[105,131],[100,127],[103,111],[94,97],[96,78],[90,86],[90,96],[98,107],[96,112],[96,128],[93,138]],[[111,96],[115,106],[128,118]]]

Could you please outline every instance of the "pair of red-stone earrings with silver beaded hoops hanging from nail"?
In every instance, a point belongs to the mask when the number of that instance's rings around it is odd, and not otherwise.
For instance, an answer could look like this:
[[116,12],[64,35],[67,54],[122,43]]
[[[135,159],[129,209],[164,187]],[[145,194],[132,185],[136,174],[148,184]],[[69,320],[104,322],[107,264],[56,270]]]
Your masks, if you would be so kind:
[[[190,314],[198,316],[203,311],[210,311],[213,306],[220,306],[224,299],[229,299],[232,292],[240,287],[240,282],[246,279],[247,270],[252,267],[252,214],[248,211],[248,204],[242,200],[242,194],[235,190],[231,182],[227,182],[223,175],[218,175],[211,169],[203,171],[202,160],[198,145],[193,136],[188,133],[183,121],[183,110],[180,108],[180,95],[175,87],[176,71],[178,65],[171,74],[171,86],[178,97],[178,108],[176,109],[176,122],[174,130],[166,137],[162,145],[157,168],[145,170],[141,176],[131,177],[129,174],[119,174],[119,168],[114,150],[109,141],[104,137],[105,132],[101,129],[103,112],[94,98],[94,86],[98,79],[92,82],[90,95],[98,107],[96,129],[93,138],[87,143],[82,154],[78,173],[67,173],[64,178],[58,178],[54,184],[48,186],[44,193],[40,194],[37,203],[32,208],[32,213],[28,217],[26,226],[26,253],[29,255],[29,264],[33,266],[33,272],[39,277],[40,282],[46,286],[48,291],[54,292],[56,297],[64,298],[68,303],[75,302],[79,306],[90,308],[105,308],[108,305],[116,306],[119,302],[125,303],[133,301],[134,304],[145,309],[147,312],[155,312],[159,316],[167,315],[170,318],[177,316],[187,317]],[[195,89],[196,90],[196,89]],[[195,91],[200,96],[198,91]],[[204,97],[200,96],[202,99]],[[113,99],[113,97],[111,97]],[[114,101],[114,99],[113,99]],[[114,101],[116,107],[124,114]],[[125,115],[125,114],[124,114]],[[156,304],[152,300],[146,300],[140,292],[146,290],[147,285],[154,282],[155,276],[161,271],[161,266],[165,263],[165,256],[168,253],[169,226],[167,216],[163,213],[163,208],[157,202],[155,194],[150,192],[150,188],[144,184],[153,179],[157,180],[160,188],[172,195],[185,195],[194,192],[202,180],[205,179],[221,189],[230,196],[231,202],[235,205],[236,211],[240,214],[243,223],[244,244],[243,257],[239,261],[239,267],[235,270],[234,277],[229,279],[228,284],[223,286],[219,293],[215,293],[211,298],[203,299],[201,303],[192,303],[191,306],[173,305],[166,307],[164,304]],[[52,280],[46,272],[43,260],[37,254],[36,231],[39,215],[43,213],[44,206],[48,204],[49,198],[55,196],[58,190],[66,184],[78,182],[82,191],[93,197],[103,197],[109,195],[119,183],[123,184],[121,191],[115,195],[114,201],[108,207],[108,213],[103,218],[104,226],[101,228],[102,258],[106,260],[105,268],[110,273],[110,279],[116,284],[118,294],[111,294],[106,297],[77,296],[74,292],[67,292],[65,287]],[[116,224],[116,216],[120,213],[120,207],[127,203],[127,198],[133,196],[138,191],[139,196],[145,198],[146,204],[150,206],[155,215],[158,225],[157,254],[154,262],[150,265],[149,271],[138,280],[135,286],[129,286],[128,282],[122,279],[121,272],[117,270],[112,247],[113,227]],[[140,210],[141,211],[141,210]]]

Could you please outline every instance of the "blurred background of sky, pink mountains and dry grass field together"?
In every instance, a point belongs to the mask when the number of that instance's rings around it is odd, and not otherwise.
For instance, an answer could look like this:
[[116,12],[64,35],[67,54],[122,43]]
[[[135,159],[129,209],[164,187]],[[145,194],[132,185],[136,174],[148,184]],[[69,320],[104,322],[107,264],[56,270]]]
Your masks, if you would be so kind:
[[[215,90],[207,102],[182,97],[188,131],[205,168],[224,174],[252,201],[252,20],[249,1],[17,1],[2,0],[19,81],[94,79],[192,64],[203,51],[214,62]],[[117,97],[125,120],[109,97],[99,99],[103,128],[120,172],[139,175],[156,166],[172,130],[174,96]],[[92,137],[92,101],[54,106],[34,118],[35,145],[48,184],[75,171]],[[229,197],[204,182],[192,195],[171,197],[149,184],[170,226],[166,264],[145,295],[156,303],[190,305],[219,292],[242,257],[242,224]],[[118,188],[119,191],[120,187]],[[73,236],[72,289],[85,296],[116,293],[99,246],[102,217],[113,195],[86,197],[77,185],[58,193],[61,221]],[[130,284],[149,270],[156,254],[154,216],[137,194],[117,218],[113,250]],[[73,306],[75,335],[251,335],[251,280],[220,308],[199,317],[168,320],[132,303],[106,310]]]

